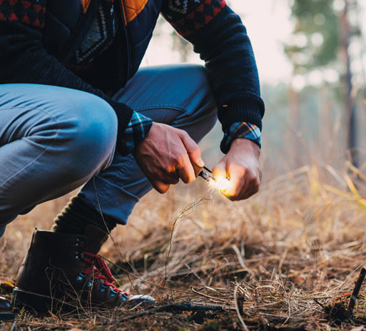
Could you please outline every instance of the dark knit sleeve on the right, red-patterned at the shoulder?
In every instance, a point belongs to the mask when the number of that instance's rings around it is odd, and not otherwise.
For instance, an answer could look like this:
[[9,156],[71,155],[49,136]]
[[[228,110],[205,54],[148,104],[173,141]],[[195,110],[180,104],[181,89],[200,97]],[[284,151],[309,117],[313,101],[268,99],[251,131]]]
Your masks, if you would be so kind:
[[226,132],[233,123],[262,129],[264,103],[250,39],[223,0],[164,0],[162,14],[205,61]]

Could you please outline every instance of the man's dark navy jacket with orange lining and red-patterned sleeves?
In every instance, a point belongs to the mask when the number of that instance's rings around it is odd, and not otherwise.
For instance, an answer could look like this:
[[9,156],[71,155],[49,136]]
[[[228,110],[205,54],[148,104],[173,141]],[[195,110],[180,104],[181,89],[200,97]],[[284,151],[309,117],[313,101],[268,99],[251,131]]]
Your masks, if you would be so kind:
[[110,97],[138,70],[163,14],[205,61],[223,130],[241,121],[262,128],[264,103],[253,49],[239,16],[224,0],[182,1],[182,11],[171,10],[176,0],[115,0],[121,26],[116,41],[90,71],[77,76],[68,61],[100,1],[113,0],[0,0],[0,83],[48,84],[101,96],[116,110],[122,136],[133,110]]

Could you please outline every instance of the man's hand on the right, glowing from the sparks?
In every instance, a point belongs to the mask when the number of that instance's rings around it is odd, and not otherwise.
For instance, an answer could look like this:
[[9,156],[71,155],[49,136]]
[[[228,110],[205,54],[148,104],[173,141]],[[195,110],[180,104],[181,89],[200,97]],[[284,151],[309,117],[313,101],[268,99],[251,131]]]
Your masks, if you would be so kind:
[[259,156],[257,144],[238,138],[231,143],[228,154],[213,168],[216,178],[230,178],[230,186],[223,192],[230,200],[247,199],[258,192],[262,179]]

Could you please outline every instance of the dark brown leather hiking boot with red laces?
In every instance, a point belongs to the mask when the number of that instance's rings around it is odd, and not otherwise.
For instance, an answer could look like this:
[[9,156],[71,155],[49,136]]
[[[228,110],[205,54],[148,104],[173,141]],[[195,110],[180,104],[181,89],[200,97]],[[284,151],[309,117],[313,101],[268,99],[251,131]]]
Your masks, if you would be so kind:
[[93,225],[86,227],[84,235],[36,230],[18,273],[13,305],[38,314],[123,305],[128,293],[113,285],[116,280],[97,255],[107,238]]

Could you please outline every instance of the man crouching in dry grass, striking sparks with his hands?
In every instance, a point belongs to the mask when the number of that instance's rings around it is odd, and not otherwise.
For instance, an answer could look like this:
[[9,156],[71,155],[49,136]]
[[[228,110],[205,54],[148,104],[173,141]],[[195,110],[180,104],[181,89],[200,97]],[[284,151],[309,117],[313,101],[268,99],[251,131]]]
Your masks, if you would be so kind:
[[[83,185],[50,231],[34,233],[14,305],[122,305],[128,294],[98,250],[151,188],[195,180],[197,143],[217,118],[225,156],[213,175],[230,178],[231,200],[258,191],[264,104],[245,27],[224,0],[0,4],[0,235],[17,215]],[[159,14],[205,68],[138,70]],[[9,312],[0,298],[0,318]]]

